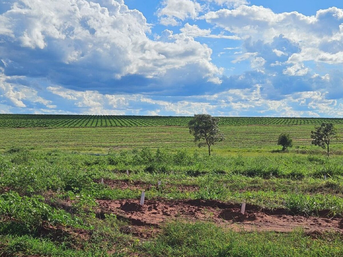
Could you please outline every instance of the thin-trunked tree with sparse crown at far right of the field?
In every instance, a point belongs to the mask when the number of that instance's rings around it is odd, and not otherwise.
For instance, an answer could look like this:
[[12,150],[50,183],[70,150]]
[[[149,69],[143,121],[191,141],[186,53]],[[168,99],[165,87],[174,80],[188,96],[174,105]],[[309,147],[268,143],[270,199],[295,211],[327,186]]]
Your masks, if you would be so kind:
[[311,131],[312,145],[317,145],[323,149],[328,149],[328,157],[330,155],[329,145],[333,139],[336,139],[336,130],[332,123],[322,123],[315,127],[315,131]]

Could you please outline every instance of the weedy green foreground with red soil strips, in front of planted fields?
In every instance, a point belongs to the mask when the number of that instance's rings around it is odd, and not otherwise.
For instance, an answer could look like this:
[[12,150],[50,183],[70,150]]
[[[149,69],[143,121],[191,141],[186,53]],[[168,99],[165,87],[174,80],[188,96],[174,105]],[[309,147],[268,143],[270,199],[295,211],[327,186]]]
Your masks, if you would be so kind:
[[342,163],[320,155],[10,149],[0,156],[0,253],[339,257]]

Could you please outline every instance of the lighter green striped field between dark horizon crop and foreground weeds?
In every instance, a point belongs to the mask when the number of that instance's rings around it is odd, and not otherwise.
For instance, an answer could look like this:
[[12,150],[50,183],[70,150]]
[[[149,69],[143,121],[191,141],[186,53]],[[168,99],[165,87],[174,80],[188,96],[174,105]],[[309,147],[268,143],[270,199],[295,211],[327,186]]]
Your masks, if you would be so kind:
[[[336,125],[343,135],[343,126]],[[290,133],[295,145],[309,145],[312,125],[299,126],[221,126],[226,140],[220,146],[249,147],[275,145],[280,133]],[[0,130],[0,146],[49,147],[191,147],[193,138],[186,127],[88,127],[25,128]]]

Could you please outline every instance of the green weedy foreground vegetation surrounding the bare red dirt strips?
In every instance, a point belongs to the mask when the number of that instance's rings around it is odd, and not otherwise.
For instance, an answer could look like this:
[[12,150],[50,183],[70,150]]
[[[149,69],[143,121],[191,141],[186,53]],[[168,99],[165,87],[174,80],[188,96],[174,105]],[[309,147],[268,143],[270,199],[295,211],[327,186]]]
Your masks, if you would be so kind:
[[[328,159],[322,155],[272,153],[268,146],[263,151],[250,148],[243,152],[218,148],[212,156],[192,148],[116,150],[105,156],[29,148],[5,148],[0,155],[0,255],[343,254],[341,234],[314,237],[300,230],[235,232],[200,222],[164,224],[151,228],[156,237],[142,239],[137,233],[127,232],[134,226],[115,215],[102,219],[96,216],[97,199],[139,199],[141,191],[94,182],[105,178],[140,181],[146,187],[152,184],[146,199],[220,200],[237,205],[246,201],[268,210],[284,208],[309,216],[330,210],[339,218],[343,216],[343,156]],[[160,188],[156,187],[157,180],[162,180]],[[179,189],[185,185],[198,188]]]

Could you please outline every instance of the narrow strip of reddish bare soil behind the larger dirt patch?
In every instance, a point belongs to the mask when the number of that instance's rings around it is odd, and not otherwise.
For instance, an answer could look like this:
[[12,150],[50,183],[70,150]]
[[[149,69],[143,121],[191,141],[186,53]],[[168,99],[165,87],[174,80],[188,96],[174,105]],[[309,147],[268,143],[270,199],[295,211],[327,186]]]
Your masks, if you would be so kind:
[[[100,179],[94,180],[96,183],[100,183]],[[130,190],[140,190],[140,191],[148,191],[152,187],[158,187],[157,181],[156,184],[152,183],[144,183],[141,181],[129,181],[129,180],[111,180],[111,179],[104,179],[104,184],[108,185],[111,188],[119,188],[119,189],[130,189]],[[171,184],[163,184],[160,188],[175,188],[181,192],[194,192],[199,190],[197,186],[190,186],[190,185],[171,185]]]

